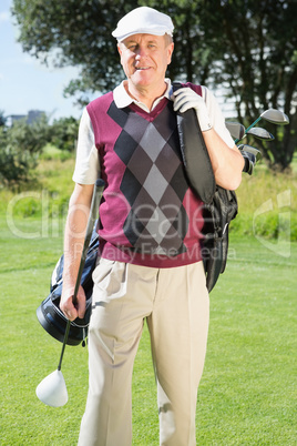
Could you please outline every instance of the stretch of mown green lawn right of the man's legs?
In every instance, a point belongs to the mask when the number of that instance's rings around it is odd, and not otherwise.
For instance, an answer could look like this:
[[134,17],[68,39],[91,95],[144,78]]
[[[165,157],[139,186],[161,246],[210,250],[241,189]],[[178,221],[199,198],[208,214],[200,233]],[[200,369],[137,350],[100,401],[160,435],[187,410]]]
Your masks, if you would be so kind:
[[232,247],[211,294],[198,444],[295,445],[297,246],[289,259],[255,239]]

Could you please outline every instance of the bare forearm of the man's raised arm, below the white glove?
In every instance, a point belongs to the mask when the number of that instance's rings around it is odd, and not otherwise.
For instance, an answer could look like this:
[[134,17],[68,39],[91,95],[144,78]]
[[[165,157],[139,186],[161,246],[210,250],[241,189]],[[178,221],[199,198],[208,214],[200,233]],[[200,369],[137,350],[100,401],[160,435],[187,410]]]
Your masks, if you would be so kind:
[[216,184],[228,190],[236,190],[242,181],[244,159],[234,145],[231,149],[214,129],[202,132],[211,158]]

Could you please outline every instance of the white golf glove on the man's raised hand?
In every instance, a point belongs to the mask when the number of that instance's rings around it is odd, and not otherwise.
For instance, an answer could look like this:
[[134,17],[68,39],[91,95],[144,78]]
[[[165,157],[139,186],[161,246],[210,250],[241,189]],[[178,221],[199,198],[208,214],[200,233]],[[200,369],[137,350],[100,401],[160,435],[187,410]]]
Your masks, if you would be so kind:
[[173,98],[174,111],[180,111],[181,113],[184,113],[188,109],[195,109],[202,132],[212,129],[204,99],[199,94],[195,93],[194,90],[187,87],[178,89],[174,91]]

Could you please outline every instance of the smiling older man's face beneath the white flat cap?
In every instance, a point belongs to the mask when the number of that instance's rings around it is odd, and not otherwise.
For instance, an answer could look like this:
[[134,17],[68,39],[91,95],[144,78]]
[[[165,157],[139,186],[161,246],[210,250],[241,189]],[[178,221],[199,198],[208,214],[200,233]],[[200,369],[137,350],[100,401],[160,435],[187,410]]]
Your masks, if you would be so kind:
[[164,87],[174,44],[165,36],[134,34],[119,44],[121,64],[134,88]]

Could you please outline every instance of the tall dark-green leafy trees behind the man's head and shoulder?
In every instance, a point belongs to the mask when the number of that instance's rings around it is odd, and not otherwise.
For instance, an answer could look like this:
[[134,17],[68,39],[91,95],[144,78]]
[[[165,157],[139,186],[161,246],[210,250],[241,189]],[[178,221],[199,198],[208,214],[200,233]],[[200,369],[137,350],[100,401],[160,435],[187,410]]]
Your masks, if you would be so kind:
[[103,93],[122,79],[111,32],[124,13],[142,4],[168,13],[175,22],[168,69],[173,80],[223,87],[242,121],[267,108],[284,108],[290,125],[263,151],[270,165],[285,170],[297,144],[296,1],[13,0],[13,14],[24,51],[45,63],[80,67],[80,78],[65,93],[81,93],[84,103],[91,92]]

